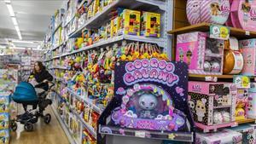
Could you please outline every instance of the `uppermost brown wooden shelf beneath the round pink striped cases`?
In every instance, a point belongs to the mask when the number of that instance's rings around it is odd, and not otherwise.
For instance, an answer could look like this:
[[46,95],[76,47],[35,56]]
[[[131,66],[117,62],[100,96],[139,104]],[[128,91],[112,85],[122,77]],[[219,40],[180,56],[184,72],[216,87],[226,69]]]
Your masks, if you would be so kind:
[[[193,26],[185,26],[182,28],[178,28],[176,30],[168,32],[169,34],[182,34],[186,32],[210,32],[210,26],[212,24],[209,23],[201,23]],[[230,27],[230,36],[237,37],[239,39],[246,38],[255,38],[256,32],[249,32],[239,28]]]

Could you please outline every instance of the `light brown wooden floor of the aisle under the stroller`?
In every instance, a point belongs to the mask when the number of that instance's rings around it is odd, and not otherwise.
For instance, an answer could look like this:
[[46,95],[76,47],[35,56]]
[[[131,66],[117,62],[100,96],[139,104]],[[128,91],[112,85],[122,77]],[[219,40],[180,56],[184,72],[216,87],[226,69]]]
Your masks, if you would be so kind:
[[52,118],[49,124],[44,124],[39,118],[32,132],[27,132],[24,125],[18,124],[18,130],[11,132],[10,144],[68,144],[67,136],[52,109],[48,107],[46,112],[49,112]]

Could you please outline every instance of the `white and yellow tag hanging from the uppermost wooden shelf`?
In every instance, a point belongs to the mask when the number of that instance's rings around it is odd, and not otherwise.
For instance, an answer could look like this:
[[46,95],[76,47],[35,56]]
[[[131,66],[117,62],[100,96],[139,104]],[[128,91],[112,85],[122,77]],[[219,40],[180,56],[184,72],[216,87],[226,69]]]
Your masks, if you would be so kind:
[[227,40],[230,38],[230,28],[227,26],[210,26],[210,37]]

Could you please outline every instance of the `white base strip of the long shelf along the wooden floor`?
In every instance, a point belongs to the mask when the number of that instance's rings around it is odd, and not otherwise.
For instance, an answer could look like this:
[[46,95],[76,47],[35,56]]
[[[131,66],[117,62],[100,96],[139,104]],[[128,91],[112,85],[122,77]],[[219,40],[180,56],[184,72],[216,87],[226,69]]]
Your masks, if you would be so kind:
[[62,130],[64,130],[65,134],[67,135],[67,139],[71,144],[78,144],[76,141],[74,141],[73,136],[71,135],[70,130],[67,128],[67,125],[63,122],[61,119],[59,113],[56,111],[56,107],[54,105],[51,105],[51,109],[55,113],[56,118],[58,119],[59,123],[61,124]]

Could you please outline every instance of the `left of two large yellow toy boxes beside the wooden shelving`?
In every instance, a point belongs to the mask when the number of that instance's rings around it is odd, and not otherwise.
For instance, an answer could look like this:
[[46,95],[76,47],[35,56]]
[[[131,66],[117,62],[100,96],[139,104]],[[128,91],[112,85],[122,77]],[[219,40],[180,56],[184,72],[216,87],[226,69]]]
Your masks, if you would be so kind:
[[140,20],[141,12],[136,10],[124,9],[120,14],[121,16],[121,29],[120,32],[129,35],[140,35]]

